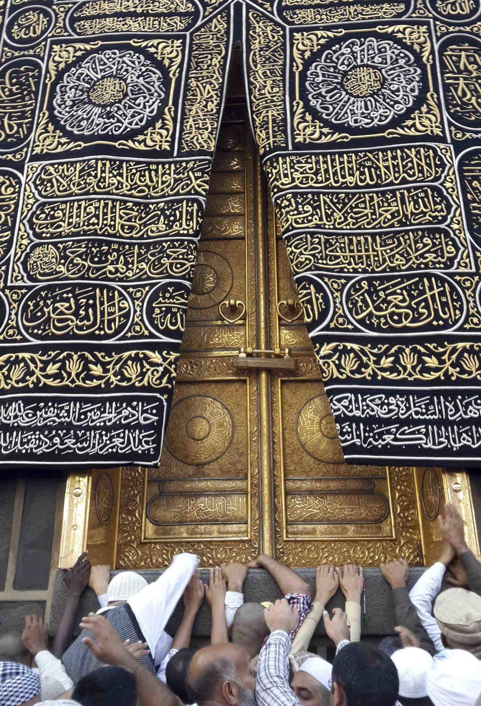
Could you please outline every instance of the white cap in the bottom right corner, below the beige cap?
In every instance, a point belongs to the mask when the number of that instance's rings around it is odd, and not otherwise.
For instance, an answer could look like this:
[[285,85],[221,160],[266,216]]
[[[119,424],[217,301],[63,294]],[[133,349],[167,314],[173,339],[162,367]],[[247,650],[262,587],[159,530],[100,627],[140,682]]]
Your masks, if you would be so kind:
[[481,693],[481,663],[466,650],[444,650],[434,657],[426,691],[434,706],[474,706]]

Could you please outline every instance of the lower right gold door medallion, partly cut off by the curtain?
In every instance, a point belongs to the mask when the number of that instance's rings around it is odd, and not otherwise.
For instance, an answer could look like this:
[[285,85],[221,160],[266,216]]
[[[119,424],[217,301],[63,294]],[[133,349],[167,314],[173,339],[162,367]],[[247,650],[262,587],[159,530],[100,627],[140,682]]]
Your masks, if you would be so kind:
[[312,458],[324,463],[343,463],[336,422],[325,393],[312,397],[300,409],[297,436],[300,445]]

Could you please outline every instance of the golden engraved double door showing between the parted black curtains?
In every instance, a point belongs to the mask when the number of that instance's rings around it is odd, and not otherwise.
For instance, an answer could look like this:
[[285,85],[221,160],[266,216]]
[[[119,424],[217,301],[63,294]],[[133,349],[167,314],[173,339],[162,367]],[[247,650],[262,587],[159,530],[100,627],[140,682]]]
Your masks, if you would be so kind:
[[70,477],[62,565],[429,563],[446,499],[477,551],[464,473],[343,462],[242,94],[233,71],[161,465]]

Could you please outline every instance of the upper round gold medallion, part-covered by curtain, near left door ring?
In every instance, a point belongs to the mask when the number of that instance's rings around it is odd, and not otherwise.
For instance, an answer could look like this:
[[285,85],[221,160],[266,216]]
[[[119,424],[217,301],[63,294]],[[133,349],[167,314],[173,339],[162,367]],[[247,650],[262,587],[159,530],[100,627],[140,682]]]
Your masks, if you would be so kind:
[[193,309],[217,306],[229,295],[233,279],[231,265],[223,257],[201,251],[193,270],[189,306]]

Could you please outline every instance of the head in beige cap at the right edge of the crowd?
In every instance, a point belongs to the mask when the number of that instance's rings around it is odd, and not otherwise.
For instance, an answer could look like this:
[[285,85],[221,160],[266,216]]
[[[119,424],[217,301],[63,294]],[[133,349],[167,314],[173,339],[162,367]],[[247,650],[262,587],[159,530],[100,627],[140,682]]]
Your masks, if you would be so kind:
[[449,588],[434,603],[434,618],[444,645],[455,650],[476,650],[481,645],[481,596],[464,588]]

